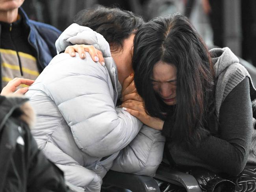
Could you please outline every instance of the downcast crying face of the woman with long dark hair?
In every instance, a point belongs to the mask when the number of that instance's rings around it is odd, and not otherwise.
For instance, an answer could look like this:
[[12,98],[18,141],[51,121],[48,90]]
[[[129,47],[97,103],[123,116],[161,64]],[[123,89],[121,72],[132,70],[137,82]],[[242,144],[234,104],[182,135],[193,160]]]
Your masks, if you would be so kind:
[[166,105],[176,104],[176,80],[176,66],[163,61],[158,61],[154,65],[151,78],[152,86]]

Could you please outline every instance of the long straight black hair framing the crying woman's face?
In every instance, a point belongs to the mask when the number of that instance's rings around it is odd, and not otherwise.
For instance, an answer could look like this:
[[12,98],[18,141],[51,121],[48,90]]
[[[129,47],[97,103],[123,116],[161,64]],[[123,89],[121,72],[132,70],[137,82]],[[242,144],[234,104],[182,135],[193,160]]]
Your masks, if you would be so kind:
[[167,120],[163,112],[171,106],[160,100],[150,80],[158,61],[177,68],[176,105],[168,114],[169,137],[174,142],[200,140],[208,133],[202,127],[215,111],[215,78],[208,48],[185,16],[154,18],[137,31],[134,39],[137,92],[149,115]]

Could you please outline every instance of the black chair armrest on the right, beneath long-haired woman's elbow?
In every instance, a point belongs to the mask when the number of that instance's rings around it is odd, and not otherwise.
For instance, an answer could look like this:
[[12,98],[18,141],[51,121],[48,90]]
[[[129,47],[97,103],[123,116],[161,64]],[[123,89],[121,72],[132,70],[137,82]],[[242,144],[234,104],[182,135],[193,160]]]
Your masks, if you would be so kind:
[[195,177],[180,171],[172,170],[169,167],[160,164],[156,171],[156,179],[183,186],[187,192],[202,192]]

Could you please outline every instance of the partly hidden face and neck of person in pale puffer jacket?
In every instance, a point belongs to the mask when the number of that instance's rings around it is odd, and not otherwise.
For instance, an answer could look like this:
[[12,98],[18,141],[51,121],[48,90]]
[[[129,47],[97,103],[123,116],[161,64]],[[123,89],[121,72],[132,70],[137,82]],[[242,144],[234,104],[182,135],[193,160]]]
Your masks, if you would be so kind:
[[117,65],[118,80],[121,85],[125,78],[127,78],[131,73],[134,73],[134,70],[132,69],[134,36],[135,35],[132,34],[124,40],[123,48],[120,51],[111,53],[115,64]]

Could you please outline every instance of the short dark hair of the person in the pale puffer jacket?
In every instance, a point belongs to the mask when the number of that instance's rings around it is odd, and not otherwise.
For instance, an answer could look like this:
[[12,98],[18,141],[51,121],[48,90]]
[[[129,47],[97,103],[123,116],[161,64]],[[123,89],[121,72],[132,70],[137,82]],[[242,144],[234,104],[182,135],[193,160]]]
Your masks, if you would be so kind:
[[115,51],[122,48],[124,39],[141,27],[143,19],[130,11],[96,6],[79,11],[74,22],[103,35],[111,51]]

